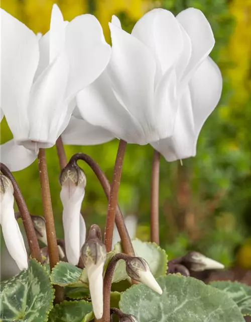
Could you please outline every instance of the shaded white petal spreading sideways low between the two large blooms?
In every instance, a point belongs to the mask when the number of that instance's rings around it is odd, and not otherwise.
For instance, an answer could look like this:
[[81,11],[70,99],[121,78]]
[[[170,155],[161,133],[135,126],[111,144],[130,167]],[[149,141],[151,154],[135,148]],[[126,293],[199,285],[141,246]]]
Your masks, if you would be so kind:
[[102,127],[91,125],[83,119],[79,120],[72,116],[61,137],[64,144],[95,145],[112,140],[114,135]]

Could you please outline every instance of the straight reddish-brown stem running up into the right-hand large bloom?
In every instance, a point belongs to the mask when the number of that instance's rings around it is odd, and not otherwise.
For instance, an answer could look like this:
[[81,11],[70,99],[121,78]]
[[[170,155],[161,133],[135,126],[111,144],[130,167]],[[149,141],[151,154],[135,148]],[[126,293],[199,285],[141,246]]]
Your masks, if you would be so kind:
[[118,144],[115,166],[113,170],[113,177],[110,186],[110,195],[104,231],[104,245],[106,247],[107,252],[111,251],[112,246],[112,235],[114,228],[115,213],[117,208],[118,189],[121,179],[122,165],[124,153],[126,152],[126,147],[127,142],[120,140]]

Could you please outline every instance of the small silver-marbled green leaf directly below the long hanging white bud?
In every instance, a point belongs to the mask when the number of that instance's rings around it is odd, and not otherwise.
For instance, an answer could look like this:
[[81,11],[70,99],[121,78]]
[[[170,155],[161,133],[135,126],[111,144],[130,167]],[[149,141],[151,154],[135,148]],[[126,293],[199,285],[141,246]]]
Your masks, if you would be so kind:
[[51,272],[52,284],[68,286],[79,284],[80,287],[86,286],[80,281],[82,271],[80,268],[66,262],[59,262]]

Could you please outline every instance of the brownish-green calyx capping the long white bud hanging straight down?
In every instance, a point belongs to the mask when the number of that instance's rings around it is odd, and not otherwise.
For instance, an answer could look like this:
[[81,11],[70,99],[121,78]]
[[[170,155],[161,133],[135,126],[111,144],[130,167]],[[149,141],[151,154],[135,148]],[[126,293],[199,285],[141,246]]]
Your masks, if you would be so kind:
[[68,164],[62,171],[59,177],[60,185],[67,182],[72,182],[75,186],[83,184],[86,185],[86,177],[83,170],[77,165]]

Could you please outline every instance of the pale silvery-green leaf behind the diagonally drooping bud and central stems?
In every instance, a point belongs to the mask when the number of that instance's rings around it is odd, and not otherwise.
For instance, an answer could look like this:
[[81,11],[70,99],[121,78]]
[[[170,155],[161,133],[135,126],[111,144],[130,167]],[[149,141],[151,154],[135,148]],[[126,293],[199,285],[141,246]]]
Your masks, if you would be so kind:
[[[154,277],[159,277],[161,275],[165,275],[167,271],[167,254],[155,243],[148,243],[141,241],[140,239],[132,240],[135,255],[137,257],[144,258]],[[113,253],[121,253],[121,244],[117,243],[114,246]],[[124,279],[127,279],[128,275],[126,272],[126,263],[120,260],[116,265],[116,269],[113,275],[112,282],[117,283]]]

